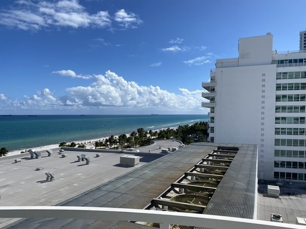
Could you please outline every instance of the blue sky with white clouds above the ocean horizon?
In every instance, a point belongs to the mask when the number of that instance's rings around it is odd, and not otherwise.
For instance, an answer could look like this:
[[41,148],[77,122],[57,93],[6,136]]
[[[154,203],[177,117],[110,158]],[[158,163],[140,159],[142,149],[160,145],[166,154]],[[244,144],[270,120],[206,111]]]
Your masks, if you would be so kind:
[[215,60],[267,32],[274,49],[298,50],[305,5],[1,1],[0,113],[207,113],[201,82]]

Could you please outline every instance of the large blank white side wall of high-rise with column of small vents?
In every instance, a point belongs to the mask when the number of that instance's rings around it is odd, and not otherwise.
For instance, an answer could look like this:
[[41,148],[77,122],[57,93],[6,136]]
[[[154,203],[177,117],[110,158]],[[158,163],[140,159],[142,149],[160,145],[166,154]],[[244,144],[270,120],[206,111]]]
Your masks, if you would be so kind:
[[[262,79],[265,79],[265,82],[262,82]],[[264,171],[263,179],[272,180],[276,66],[269,64],[218,68],[216,81],[215,142],[257,144],[259,174]],[[262,87],[263,84],[265,87]],[[262,90],[265,90],[265,93],[262,93]],[[262,98],[263,95],[265,98]],[[264,101],[264,104],[261,101]],[[262,106],[265,109],[261,109]],[[261,112],[264,112],[264,115]],[[261,122],[264,125],[261,125]],[[264,128],[264,131],[261,131],[261,128]],[[260,147],[261,144],[264,146]]]

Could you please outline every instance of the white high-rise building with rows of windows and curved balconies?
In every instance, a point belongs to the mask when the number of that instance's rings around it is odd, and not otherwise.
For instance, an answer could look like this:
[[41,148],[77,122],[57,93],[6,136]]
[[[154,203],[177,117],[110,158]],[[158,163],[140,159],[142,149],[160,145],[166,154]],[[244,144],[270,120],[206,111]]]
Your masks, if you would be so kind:
[[238,49],[202,82],[208,140],[257,144],[259,179],[306,181],[306,50],[273,50],[271,33],[240,38]]

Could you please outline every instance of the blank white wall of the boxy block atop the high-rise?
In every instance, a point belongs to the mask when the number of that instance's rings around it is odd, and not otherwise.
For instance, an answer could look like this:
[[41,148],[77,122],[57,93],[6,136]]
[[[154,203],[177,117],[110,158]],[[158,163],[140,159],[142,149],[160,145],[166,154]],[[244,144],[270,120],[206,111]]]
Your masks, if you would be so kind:
[[239,66],[271,64],[273,36],[239,39]]

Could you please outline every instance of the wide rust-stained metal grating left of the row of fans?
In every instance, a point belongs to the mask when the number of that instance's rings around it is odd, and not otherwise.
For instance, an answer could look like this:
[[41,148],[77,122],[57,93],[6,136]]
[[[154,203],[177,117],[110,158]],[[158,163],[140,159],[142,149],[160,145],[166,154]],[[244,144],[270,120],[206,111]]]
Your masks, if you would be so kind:
[[[87,206],[141,209],[171,183],[180,178],[215,146],[189,145],[71,198],[59,206]],[[120,154],[119,154],[120,155]],[[122,155],[122,154],[121,154]],[[66,158],[65,158],[66,159]],[[63,159],[63,160],[65,160]],[[60,160],[60,158],[58,158]],[[85,167],[85,166],[81,166]],[[100,176],[103,173],[99,174]],[[56,183],[56,182],[54,182]],[[147,228],[140,224],[123,227],[122,221],[82,219],[23,219],[4,228]]]

